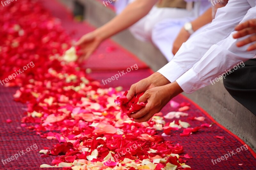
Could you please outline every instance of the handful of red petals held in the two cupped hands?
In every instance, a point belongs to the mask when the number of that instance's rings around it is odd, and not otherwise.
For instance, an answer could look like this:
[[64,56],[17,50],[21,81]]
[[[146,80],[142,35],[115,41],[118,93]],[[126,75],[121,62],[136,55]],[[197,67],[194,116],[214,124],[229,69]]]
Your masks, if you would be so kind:
[[128,101],[126,95],[128,91],[124,92],[124,94],[120,97],[117,97],[115,100],[116,104],[121,107],[122,113],[127,114],[128,117],[131,117],[132,113],[137,113],[140,109],[146,106],[146,103],[139,102],[140,96],[142,96],[144,93],[136,94],[136,96],[133,96],[130,101]]

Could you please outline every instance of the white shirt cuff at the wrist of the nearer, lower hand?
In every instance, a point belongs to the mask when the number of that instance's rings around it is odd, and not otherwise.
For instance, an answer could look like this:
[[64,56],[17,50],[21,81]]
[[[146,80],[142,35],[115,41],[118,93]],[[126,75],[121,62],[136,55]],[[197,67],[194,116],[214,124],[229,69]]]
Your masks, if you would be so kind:
[[176,82],[187,94],[191,94],[196,90],[207,86],[203,81],[200,81],[200,78],[192,68],[180,76]]

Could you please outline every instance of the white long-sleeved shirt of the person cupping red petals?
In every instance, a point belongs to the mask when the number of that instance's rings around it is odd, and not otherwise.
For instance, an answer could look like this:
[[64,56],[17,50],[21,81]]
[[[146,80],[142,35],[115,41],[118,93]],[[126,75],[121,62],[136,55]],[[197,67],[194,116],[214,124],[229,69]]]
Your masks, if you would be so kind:
[[183,43],[172,61],[158,70],[170,82],[176,81],[186,93],[210,84],[226,70],[256,55],[247,51],[249,45],[238,48],[234,28],[239,23],[256,18],[255,0],[229,0],[218,9],[215,19],[202,33]]

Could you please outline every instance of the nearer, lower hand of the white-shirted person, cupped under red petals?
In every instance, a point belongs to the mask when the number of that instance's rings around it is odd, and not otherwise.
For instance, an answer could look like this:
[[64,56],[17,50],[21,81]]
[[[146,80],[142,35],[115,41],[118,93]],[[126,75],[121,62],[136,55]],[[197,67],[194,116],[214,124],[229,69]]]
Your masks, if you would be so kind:
[[159,113],[162,108],[175,96],[183,92],[177,82],[170,83],[147,90],[139,99],[140,102],[148,102],[139,112],[132,114],[135,122],[147,122],[153,115]]

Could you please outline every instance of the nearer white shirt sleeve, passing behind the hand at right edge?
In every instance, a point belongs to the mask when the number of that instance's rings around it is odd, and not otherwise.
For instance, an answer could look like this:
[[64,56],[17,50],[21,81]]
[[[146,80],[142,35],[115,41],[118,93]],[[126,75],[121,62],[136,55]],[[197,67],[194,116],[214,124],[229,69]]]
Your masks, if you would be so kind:
[[[250,8],[241,22],[255,19],[255,14],[256,7]],[[237,68],[244,67],[244,62],[255,56],[255,50],[247,51],[247,46],[236,47],[240,40],[233,38],[234,33],[213,45],[191,69],[176,80],[186,93],[192,93],[206,85],[215,84],[215,81],[222,79],[221,76],[225,78]],[[232,71],[232,69],[234,70]]]

